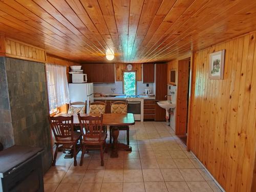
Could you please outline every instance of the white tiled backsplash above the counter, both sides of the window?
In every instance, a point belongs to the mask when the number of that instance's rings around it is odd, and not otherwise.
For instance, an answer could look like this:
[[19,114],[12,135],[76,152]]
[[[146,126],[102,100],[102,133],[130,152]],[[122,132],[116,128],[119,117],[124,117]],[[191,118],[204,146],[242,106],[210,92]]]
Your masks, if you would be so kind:
[[[111,88],[115,88],[113,94],[122,94],[123,93],[123,82],[116,81],[115,83],[93,83],[94,93],[102,93],[102,94],[112,94]],[[152,94],[154,93],[154,83],[148,83],[148,87],[146,87],[146,83],[142,83],[142,81],[137,81],[137,94],[143,94],[145,89],[151,89]]]

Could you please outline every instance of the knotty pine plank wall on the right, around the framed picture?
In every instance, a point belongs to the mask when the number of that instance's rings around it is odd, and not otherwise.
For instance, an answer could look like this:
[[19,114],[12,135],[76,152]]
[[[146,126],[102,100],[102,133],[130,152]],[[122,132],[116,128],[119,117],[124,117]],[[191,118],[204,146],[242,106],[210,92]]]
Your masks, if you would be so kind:
[[[228,192],[253,191],[255,35],[231,39],[195,54],[189,147]],[[223,49],[224,79],[208,79],[209,54]]]

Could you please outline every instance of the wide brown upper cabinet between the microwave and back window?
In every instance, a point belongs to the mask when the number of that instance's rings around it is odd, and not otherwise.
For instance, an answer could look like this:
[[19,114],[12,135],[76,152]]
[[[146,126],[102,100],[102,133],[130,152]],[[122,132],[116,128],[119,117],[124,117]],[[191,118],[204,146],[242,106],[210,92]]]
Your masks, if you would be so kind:
[[110,83],[115,82],[114,63],[83,64],[82,69],[87,74],[88,82]]

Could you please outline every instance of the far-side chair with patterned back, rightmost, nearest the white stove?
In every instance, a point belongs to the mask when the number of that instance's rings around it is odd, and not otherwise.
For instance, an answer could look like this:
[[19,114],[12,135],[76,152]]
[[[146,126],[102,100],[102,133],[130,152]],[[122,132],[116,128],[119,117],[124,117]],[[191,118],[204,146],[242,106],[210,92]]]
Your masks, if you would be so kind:
[[[127,101],[116,101],[111,103],[111,113],[127,113]],[[126,131],[127,145],[130,144],[129,141],[129,126],[110,126],[110,143],[112,143],[112,129],[117,127],[119,131]]]

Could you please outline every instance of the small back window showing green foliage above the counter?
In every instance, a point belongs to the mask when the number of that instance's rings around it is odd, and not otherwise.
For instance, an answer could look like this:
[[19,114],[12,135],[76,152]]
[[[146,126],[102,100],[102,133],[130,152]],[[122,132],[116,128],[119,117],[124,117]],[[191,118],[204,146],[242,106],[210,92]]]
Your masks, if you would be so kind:
[[123,72],[123,93],[126,95],[136,95],[136,72],[124,71]]

